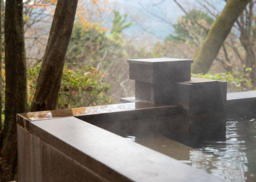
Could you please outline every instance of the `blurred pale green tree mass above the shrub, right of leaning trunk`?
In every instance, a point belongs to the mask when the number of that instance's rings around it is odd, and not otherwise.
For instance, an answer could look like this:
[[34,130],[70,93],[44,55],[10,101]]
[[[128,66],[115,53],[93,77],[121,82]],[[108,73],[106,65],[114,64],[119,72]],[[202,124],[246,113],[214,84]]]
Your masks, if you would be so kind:
[[67,63],[93,64],[95,67],[105,59],[102,66],[107,67],[113,59],[123,57],[126,51],[121,32],[131,25],[126,22],[127,15],[121,16],[114,11],[114,19],[110,34],[99,27],[84,27],[76,21],[69,42]]

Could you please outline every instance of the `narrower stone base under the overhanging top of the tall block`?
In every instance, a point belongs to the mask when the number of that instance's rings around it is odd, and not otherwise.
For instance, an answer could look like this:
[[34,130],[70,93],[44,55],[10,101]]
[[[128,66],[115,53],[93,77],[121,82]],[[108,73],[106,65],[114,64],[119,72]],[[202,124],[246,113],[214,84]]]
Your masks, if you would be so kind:
[[135,99],[152,103],[170,103],[170,82],[147,83],[135,80]]

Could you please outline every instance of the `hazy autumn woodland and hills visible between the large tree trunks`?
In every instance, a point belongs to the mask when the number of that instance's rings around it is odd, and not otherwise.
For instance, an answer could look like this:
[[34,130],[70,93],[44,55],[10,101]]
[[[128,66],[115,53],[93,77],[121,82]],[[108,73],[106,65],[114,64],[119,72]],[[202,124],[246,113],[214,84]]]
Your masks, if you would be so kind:
[[[29,107],[56,2],[23,0]],[[202,27],[210,29],[225,5],[224,0],[79,0],[57,108],[118,103],[120,97],[134,96],[126,60],[192,59],[207,35]],[[253,20],[255,12],[253,7]],[[227,80],[228,92],[254,90],[240,35],[235,23],[209,71],[192,76]],[[4,68],[4,60],[2,64]]]

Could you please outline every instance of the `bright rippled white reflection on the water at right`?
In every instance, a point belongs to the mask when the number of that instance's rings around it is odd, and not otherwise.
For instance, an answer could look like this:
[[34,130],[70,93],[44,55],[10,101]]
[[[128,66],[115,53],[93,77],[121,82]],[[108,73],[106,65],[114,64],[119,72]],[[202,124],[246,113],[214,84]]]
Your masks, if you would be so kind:
[[225,141],[193,143],[191,165],[225,181],[256,181],[256,119],[227,119]]

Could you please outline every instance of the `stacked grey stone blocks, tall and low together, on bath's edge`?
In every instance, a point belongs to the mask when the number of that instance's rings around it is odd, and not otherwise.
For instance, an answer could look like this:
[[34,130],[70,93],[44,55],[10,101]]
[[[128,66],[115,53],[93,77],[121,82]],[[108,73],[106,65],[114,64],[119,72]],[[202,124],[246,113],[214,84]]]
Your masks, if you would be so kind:
[[135,80],[135,99],[182,104],[189,115],[221,112],[226,106],[226,82],[191,78],[191,59],[132,59],[129,78]]

